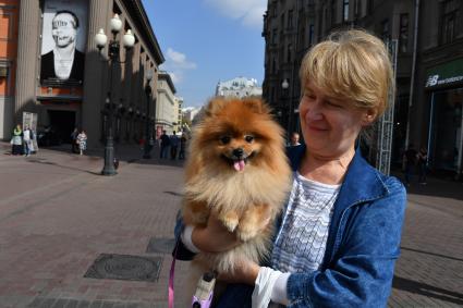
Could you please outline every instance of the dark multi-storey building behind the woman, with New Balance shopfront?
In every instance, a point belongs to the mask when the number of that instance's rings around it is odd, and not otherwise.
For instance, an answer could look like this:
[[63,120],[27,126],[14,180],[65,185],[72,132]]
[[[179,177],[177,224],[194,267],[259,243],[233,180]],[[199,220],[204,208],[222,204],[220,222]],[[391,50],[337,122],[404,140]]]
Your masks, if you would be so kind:
[[297,130],[302,57],[336,29],[365,28],[395,56],[392,162],[413,144],[428,149],[432,169],[460,174],[462,14],[461,0],[269,0],[263,96],[284,128]]

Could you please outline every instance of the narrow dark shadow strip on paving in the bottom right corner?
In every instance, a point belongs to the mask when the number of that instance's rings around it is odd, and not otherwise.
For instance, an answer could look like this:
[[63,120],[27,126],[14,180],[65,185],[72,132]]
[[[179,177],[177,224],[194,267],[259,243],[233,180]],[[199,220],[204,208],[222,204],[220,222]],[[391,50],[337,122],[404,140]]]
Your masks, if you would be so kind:
[[[437,282],[438,283],[438,282]],[[392,287],[413,294],[463,305],[463,294],[394,275]]]

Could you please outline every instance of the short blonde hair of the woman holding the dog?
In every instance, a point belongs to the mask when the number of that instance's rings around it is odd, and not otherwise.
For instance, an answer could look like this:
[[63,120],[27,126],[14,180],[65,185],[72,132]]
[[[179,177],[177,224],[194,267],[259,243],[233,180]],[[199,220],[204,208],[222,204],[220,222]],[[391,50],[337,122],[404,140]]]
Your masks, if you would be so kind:
[[328,96],[348,99],[354,106],[375,110],[388,107],[394,79],[385,44],[361,29],[336,32],[314,46],[302,60],[301,90],[308,82]]

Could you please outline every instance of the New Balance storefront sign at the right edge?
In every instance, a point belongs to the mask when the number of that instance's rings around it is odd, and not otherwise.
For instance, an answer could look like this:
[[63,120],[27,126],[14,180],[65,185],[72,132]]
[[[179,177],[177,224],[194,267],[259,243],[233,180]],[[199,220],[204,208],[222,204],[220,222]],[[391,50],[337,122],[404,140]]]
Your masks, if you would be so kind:
[[463,59],[451,61],[427,71],[425,88],[463,83]]

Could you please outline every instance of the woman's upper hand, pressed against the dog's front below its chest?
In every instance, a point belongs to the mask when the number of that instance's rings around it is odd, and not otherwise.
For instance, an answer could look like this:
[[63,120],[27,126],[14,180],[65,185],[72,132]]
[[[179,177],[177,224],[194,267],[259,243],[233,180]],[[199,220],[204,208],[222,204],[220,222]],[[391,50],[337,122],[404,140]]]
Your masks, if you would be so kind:
[[205,252],[227,251],[241,243],[235,232],[228,231],[215,212],[209,215],[205,227],[196,226],[193,230],[192,242],[199,250]]

